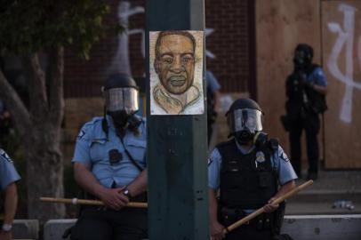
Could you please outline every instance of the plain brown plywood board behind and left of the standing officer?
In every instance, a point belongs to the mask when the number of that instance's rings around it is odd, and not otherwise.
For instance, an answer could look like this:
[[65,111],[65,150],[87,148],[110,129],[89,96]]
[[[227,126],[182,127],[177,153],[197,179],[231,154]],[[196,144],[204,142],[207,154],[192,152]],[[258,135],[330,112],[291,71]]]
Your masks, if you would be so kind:
[[[285,114],[285,78],[293,71],[297,44],[310,44],[320,63],[320,3],[315,0],[257,0],[257,91],[265,112],[264,130],[289,153],[288,135],[279,117]],[[305,156],[303,150],[303,156]]]

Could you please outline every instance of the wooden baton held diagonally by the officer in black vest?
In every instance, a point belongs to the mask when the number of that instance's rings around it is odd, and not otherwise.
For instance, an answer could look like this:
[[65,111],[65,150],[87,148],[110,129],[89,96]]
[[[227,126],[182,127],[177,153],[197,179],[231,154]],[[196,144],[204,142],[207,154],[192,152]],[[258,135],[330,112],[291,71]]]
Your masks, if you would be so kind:
[[[290,198],[291,196],[296,195],[298,192],[300,192],[301,190],[303,190],[304,188],[308,188],[310,185],[313,184],[313,180],[308,180],[305,183],[301,184],[300,186],[293,188],[291,191],[289,191],[288,193],[286,193],[284,196],[279,196],[276,198],[276,200],[273,202],[273,204],[280,204],[283,201],[285,201],[285,199]],[[229,225],[228,228],[225,228],[223,230],[224,234],[227,234],[230,231],[233,231],[234,229],[238,228],[239,226],[245,224],[247,221],[249,220],[253,220],[255,217],[257,217],[258,215],[262,214],[264,211],[263,207],[259,208],[258,210],[252,212],[251,214],[245,216],[245,218],[241,219],[241,220],[237,220],[235,223]]]

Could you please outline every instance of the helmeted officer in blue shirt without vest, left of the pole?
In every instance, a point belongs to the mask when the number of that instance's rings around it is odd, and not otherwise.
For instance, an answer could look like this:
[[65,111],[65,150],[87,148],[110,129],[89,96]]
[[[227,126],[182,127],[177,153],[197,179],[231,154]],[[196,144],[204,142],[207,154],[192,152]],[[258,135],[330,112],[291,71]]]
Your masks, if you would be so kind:
[[132,77],[117,74],[108,78],[103,93],[106,116],[84,124],[72,163],[78,185],[106,208],[84,207],[71,239],[143,239],[147,211],[124,207],[147,200],[146,125],[134,115],[138,86]]

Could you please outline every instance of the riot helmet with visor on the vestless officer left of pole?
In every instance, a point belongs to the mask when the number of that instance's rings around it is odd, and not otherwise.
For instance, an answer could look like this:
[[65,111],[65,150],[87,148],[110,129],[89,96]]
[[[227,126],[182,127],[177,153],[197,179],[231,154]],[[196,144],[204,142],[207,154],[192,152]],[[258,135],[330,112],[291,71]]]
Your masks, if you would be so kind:
[[115,125],[122,126],[139,109],[139,88],[131,76],[109,76],[103,86],[105,108]]

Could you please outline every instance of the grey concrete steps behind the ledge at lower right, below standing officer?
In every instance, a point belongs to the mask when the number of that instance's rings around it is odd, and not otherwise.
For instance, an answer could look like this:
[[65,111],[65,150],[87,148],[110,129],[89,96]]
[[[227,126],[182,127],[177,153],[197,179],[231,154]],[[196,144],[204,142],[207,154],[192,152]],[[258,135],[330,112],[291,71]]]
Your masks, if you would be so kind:
[[[305,181],[297,180],[296,184]],[[354,209],[333,208],[338,200],[351,201]],[[285,210],[286,215],[360,213],[361,171],[320,171],[313,185],[287,201]]]

